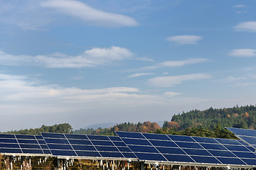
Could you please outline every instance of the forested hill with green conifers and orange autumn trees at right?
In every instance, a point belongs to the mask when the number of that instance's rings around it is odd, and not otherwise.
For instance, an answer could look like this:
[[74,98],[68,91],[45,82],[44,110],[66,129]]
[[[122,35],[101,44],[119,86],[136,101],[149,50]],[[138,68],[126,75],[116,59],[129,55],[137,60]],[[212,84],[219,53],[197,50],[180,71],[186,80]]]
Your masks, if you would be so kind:
[[174,115],[171,121],[180,130],[199,126],[214,130],[218,124],[222,128],[256,129],[256,107],[251,105],[233,108],[208,108],[206,111],[194,110]]

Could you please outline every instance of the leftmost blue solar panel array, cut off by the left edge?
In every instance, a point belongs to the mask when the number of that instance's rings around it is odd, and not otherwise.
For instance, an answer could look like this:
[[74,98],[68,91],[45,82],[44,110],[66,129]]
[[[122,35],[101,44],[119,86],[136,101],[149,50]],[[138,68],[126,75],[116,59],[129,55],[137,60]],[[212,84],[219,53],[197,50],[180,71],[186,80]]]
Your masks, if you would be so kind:
[[17,155],[51,154],[41,136],[9,134],[0,134],[0,153]]

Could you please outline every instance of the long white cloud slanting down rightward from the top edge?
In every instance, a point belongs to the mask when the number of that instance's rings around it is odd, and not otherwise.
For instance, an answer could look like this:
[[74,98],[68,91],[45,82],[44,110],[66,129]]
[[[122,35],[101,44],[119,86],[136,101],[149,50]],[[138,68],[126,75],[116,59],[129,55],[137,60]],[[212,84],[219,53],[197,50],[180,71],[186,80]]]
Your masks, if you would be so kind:
[[53,8],[61,13],[75,16],[91,25],[107,27],[137,26],[137,21],[129,16],[99,11],[80,1],[48,0],[41,1],[41,6]]

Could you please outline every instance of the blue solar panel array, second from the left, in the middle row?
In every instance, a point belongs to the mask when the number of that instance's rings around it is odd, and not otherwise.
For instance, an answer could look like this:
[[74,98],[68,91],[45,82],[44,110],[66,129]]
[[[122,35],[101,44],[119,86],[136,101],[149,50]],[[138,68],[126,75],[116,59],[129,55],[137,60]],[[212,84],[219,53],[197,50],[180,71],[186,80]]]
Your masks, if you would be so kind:
[[53,155],[94,159],[137,159],[119,137],[42,133]]

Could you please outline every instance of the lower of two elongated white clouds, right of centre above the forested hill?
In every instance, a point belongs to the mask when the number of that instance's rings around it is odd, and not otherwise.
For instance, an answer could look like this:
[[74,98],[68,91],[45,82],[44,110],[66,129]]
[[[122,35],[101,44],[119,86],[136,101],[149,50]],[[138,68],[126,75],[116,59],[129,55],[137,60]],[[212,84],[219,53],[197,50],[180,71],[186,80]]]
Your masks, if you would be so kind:
[[171,76],[171,77],[155,77],[149,79],[148,83],[151,86],[159,87],[169,87],[177,84],[182,84],[183,81],[191,81],[196,79],[210,79],[208,74],[185,74],[180,76]]

